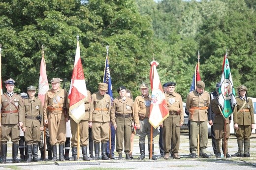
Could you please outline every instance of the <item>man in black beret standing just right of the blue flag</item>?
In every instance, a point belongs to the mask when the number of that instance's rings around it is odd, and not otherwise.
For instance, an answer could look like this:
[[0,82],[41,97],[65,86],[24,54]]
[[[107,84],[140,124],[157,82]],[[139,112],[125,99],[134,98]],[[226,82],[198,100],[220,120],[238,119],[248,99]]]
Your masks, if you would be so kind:
[[131,136],[131,114],[133,101],[131,98],[126,97],[126,87],[121,86],[117,89],[119,97],[115,98],[111,114],[113,116],[113,125],[116,129],[116,151],[118,152],[118,159],[123,159],[123,142],[125,140],[125,153],[126,159],[131,159],[130,152],[130,136]]

